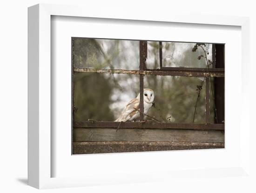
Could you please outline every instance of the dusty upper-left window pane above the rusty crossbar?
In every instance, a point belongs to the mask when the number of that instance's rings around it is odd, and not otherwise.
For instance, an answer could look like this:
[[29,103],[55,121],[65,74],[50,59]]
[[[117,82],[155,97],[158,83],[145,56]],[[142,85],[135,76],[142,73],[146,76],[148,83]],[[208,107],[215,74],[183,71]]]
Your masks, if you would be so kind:
[[140,41],[73,38],[74,67],[138,70]]

